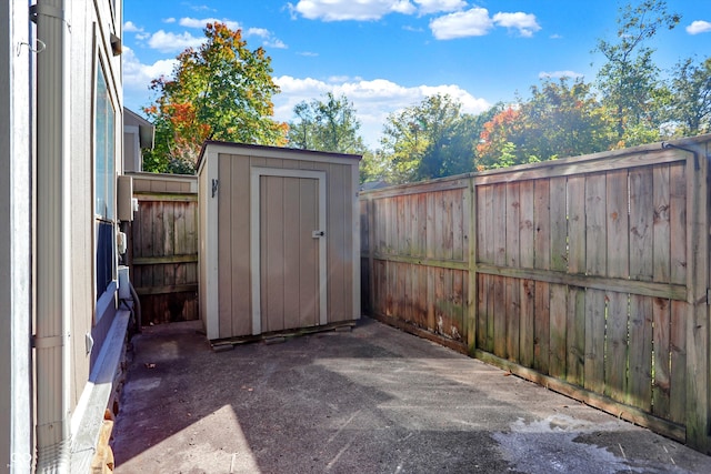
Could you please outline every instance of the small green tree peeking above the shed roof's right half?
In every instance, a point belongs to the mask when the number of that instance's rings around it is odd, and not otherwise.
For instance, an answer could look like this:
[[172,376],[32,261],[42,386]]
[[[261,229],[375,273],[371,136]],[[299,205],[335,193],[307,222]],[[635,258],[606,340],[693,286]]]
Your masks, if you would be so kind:
[[336,153],[365,151],[357,111],[346,95],[337,98],[328,92],[323,100],[298,103],[293,113],[297,120],[289,123],[287,135],[290,147]]

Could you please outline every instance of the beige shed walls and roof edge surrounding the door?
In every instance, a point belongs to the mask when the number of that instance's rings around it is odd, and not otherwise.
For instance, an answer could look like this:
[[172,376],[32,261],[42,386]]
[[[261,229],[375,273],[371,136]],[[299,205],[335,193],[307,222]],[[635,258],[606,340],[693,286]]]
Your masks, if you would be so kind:
[[[200,305],[209,339],[254,332],[250,246],[251,170],[279,169],[326,175],[326,279],[329,323],[360,317],[358,157],[211,142],[199,163]],[[212,196],[212,180],[218,189]],[[206,186],[208,188],[206,190]],[[207,199],[207,202],[204,201]],[[211,208],[212,206],[212,208]],[[210,211],[212,209],[212,211]],[[204,283],[213,279],[214,285]],[[210,290],[212,294],[210,294]]]

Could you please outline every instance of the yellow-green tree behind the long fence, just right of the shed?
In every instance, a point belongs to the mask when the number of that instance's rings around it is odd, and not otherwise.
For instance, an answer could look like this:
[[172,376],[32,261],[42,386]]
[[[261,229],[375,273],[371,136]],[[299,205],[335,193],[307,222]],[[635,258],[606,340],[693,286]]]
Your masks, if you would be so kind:
[[480,122],[461,113],[450,95],[431,95],[392,113],[383,127],[382,159],[389,182],[464,173],[473,169]]

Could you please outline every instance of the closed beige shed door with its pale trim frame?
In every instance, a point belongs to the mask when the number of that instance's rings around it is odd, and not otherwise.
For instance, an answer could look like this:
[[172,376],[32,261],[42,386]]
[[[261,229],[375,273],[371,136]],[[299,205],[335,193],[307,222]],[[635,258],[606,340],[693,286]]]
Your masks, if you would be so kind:
[[252,185],[252,333],[324,324],[326,174],[253,169]]

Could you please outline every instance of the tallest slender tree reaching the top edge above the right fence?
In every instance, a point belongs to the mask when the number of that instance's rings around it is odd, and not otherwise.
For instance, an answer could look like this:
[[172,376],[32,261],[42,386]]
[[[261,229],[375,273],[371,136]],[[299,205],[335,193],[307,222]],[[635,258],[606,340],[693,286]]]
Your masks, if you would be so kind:
[[639,144],[641,137],[650,137],[640,133],[640,128],[652,134],[659,130],[662,104],[654,100],[661,87],[659,68],[652,61],[654,50],[644,41],[661,29],[673,29],[680,20],[679,14],[668,11],[664,0],[628,3],[620,9],[615,40],[598,40],[597,51],[607,60],[598,72],[598,84],[614,118],[620,147]]

